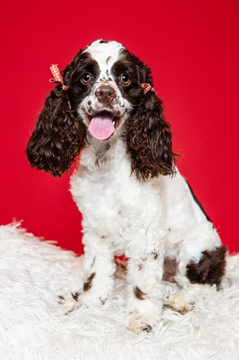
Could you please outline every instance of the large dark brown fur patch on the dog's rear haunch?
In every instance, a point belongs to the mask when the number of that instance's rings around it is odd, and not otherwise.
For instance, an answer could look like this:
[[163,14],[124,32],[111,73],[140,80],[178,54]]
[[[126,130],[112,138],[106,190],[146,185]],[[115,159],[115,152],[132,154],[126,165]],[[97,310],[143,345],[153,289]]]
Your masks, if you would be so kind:
[[219,285],[225,274],[226,252],[226,246],[220,246],[215,251],[203,251],[203,257],[197,264],[187,264],[187,278],[193,284]]

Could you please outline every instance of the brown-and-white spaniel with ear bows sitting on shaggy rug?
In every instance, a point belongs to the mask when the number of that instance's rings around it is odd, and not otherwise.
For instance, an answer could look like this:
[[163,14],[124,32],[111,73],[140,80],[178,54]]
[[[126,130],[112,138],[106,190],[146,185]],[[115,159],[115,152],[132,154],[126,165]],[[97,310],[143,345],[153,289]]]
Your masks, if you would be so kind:
[[[52,72],[58,85],[26,152],[31,166],[60,177],[84,149],[71,177],[85,251],[83,291],[73,297],[104,303],[114,288],[114,256],[125,254],[124,324],[132,332],[150,331],[163,305],[183,313],[198,296],[213,296],[225,273],[226,247],[175,166],[151,69],[122,44],[97,40],[62,73],[57,66]],[[180,289],[166,300],[164,280]]]

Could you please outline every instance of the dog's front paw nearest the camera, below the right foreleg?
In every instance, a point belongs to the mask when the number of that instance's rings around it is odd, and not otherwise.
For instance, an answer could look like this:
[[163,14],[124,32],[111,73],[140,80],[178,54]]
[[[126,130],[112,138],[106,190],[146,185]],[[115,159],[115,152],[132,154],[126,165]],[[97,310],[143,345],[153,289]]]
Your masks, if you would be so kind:
[[132,333],[139,333],[142,331],[149,333],[152,331],[155,323],[155,320],[147,319],[144,314],[141,314],[137,311],[127,315],[123,320],[123,326],[125,326]]

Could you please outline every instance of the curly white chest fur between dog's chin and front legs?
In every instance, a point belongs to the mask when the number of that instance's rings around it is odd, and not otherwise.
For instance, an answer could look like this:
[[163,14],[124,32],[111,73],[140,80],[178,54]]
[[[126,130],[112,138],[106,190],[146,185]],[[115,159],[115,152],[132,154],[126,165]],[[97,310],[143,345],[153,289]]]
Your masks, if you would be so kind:
[[[104,148],[102,148],[102,146]],[[139,183],[131,173],[123,141],[106,151],[96,143],[85,149],[71,179],[72,196],[83,214],[83,228],[109,237],[116,253],[126,253],[139,241],[159,237],[160,187]]]

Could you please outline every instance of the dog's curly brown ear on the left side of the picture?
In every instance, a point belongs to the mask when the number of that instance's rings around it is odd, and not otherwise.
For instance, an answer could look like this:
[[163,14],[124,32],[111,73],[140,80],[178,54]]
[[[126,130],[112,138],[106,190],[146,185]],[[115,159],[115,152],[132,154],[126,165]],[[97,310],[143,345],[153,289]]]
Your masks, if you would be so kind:
[[85,126],[69,107],[67,91],[58,85],[46,99],[28,141],[28,160],[32,167],[60,177],[85,146],[85,136]]

